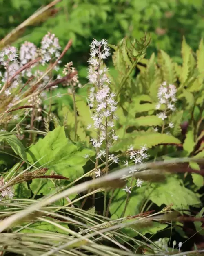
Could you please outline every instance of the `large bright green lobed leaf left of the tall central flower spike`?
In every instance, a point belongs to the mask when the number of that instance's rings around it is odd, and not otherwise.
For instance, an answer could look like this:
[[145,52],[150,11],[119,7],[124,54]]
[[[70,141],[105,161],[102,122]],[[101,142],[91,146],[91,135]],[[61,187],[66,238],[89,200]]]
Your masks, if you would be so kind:
[[93,156],[95,152],[73,144],[66,138],[64,127],[59,126],[32,145],[27,151],[27,158],[30,163],[38,161],[37,167],[47,167],[73,181],[84,172],[85,154]]

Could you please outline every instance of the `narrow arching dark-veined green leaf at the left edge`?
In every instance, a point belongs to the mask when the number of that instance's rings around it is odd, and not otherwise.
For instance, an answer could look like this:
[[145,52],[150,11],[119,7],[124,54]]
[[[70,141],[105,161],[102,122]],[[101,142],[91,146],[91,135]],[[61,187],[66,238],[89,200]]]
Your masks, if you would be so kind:
[[23,161],[27,162],[25,147],[22,142],[11,133],[0,132],[0,142],[5,140],[13,149],[13,151],[19,155]]

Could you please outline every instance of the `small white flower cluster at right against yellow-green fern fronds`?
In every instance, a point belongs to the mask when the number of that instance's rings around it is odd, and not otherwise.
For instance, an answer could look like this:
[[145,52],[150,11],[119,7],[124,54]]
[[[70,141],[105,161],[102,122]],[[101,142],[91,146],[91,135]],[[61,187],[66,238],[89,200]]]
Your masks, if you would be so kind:
[[[156,109],[160,109],[162,105],[164,105],[164,111],[158,114],[158,117],[163,121],[168,118],[168,115],[171,111],[175,111],[175,102],[177,89],[174,84],[167,84],[166,81],[162,83],[158,90],[158,104],[156,105]],[[173,128],[173,122],[169,122],[168,127]],[[158,128],[155,128],[155,131],[158,131]]]

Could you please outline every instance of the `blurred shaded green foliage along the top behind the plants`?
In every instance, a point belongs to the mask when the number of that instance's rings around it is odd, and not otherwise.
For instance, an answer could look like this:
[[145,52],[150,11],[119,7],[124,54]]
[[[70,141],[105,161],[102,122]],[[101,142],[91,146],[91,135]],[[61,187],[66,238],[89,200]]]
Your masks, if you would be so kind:
[[[1,0],[0,38],[50,2]],[[73,39],[64,62],[73,61],[82,77],[93,38],[117,44],[126,35],[139,39],[150,32],[147,57],[162,49],[180,63],[182,37],[195,50],[204,36],[204,0],[62,0],[54,8],[52,17],[29,26],[14,45],[31,41],[39,46],[47,31],[59,38],[62,48]]]

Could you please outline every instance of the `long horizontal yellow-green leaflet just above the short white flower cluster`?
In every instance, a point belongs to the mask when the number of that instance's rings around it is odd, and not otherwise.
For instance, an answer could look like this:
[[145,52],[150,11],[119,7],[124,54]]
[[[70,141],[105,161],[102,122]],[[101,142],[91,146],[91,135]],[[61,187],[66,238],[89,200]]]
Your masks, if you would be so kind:
[[126,151],[128,146],[133,144],[135,149],[139,149],[141,145],[146,144],[151,148],[159,144],[180,144],[180,140],[170,134],[160,134],[157,132],[135,132],[126,134],[126,138],[118,141],[117,144],[111,147],[112,151]]

